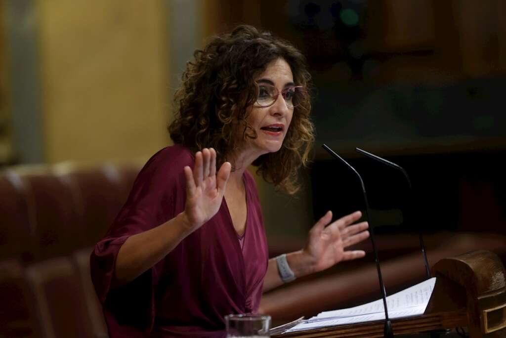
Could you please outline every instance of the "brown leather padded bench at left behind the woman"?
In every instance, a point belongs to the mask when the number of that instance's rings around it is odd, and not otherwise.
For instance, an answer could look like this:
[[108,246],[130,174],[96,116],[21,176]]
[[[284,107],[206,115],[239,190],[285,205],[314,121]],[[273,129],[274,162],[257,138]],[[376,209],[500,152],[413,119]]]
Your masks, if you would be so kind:
[[89,257],[142,162],[0,174],[0,336],[107,336]]

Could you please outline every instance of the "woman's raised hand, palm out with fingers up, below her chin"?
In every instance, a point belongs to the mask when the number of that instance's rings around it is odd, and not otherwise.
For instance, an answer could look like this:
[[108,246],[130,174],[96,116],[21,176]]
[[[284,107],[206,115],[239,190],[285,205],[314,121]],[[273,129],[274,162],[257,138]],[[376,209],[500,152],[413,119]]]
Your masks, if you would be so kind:
[[195,154],[193,172],[184,167],[186,177],[185,217],[189,230],[193,231],[216,215],[225,194],[231,170],[230,162],[225,162],[216,174],[216,151],[204,148]]

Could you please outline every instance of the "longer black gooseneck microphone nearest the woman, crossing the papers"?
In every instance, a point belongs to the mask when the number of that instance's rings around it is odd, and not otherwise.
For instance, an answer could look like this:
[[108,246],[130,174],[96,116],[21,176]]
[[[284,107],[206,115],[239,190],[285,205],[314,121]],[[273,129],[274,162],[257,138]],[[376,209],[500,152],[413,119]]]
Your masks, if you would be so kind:
[[336,154],[326,144],[323,144],[322,147],[323,147],[323,149],[328,151],[332,156],[334,156],[335,158],[339,159],[341,162],[346,164],[346,166],[349,167],[351,169],[351,171],[354,172],[355,175],[358,177],[358,180],[360,181],[360,185],[362,186],[362,193],[363,193],[364,202],[365,202],[365,215],[367,218],[367,222],[369,223],[369,231],[371,234],[372,249],[374,251],[374,260],[376,261],[376,270],[377,270],[378,279],[379,279],[379,288],[381,289],[381,292],[382,292],[383,307],[385,309],[385,328],[383,330],[383,336],[386,338],[393,338],[394,331],[392,330],[392,322],[390,321],[390,318],[388,317],[387,291],[385,290],[385,283],[383,283],[383,276],[381,274],[381,268],[379,267],[378,251],[376,249],[376,242],[374,241],[373,227],[371,226],[371,223],[370,223],[369,202],[367,201],[367,194],[365,192],[364,181],[362,180],[362,177],[360,176],[360,174],[355,170],[355,168],[353,166],[351,166],[347,161],[345,161],[341,156]]

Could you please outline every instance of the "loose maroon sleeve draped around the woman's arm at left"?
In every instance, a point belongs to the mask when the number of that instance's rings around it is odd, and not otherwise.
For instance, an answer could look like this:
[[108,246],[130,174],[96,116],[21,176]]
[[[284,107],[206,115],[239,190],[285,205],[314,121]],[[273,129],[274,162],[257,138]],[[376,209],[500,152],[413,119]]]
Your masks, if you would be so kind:
[[154,295],[164,260],[133,281],[114,286],[116,258],[130,236],[176,216],[175,196],[185,187],[183,168],[193,167],[193,163],[191,153],[181,146],[167,147],[153,155],[107,234],[95,245],[90,258],[92,280],[111,338],[145,336],[153,327]]

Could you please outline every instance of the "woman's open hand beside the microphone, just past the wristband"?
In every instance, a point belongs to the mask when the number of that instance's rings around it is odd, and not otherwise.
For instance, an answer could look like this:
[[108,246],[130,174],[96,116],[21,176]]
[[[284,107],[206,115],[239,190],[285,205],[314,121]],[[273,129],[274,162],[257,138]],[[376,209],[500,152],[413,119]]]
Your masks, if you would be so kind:
[[310,273],[365,256],[363,250],[345,250],[369,237],[367,222],[353,224],[360,217],[362,213],[358,211],[329,224],[332,212],[328,211],[316,222],[309,231],[308,242],[302,250],[302,254],[306,256],[304,261],[310,262]]

